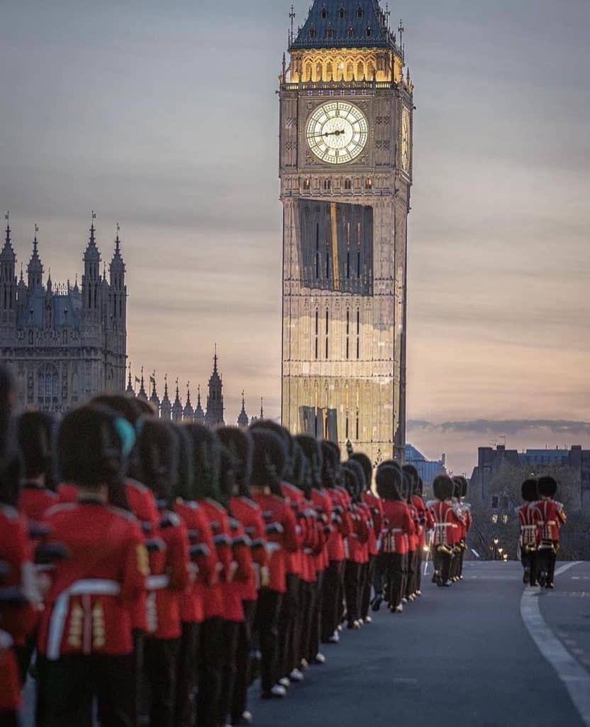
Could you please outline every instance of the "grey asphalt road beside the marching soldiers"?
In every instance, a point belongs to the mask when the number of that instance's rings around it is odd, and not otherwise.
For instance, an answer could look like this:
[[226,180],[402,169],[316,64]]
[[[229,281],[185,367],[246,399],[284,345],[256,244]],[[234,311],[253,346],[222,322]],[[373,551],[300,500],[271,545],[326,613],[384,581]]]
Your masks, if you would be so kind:
[[[547,656],[562,672],[567,659],[580,670],[566,683],[578,687],[585,719],[523,620],[520,564],[467,563],[464,576],[450,589],[426,582],[403,614],[382,610],[344,632],[284,701],[253,694],[256,726],[589,726],[590,563],[559,574],[554,591],[525,594],[541,616],[530,622],[525,610],[528,626],[546,628]],[[556,643],[567,650],[561,661]]]

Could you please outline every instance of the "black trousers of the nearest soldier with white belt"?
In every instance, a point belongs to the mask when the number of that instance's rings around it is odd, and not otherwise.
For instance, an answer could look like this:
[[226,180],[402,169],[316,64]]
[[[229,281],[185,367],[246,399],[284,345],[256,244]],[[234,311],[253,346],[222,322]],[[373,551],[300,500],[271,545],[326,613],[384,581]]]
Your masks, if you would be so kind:
[[134,656],[61,656],[44,660],[37,727],[92,727],[94,697],[102,727],[134,724]]

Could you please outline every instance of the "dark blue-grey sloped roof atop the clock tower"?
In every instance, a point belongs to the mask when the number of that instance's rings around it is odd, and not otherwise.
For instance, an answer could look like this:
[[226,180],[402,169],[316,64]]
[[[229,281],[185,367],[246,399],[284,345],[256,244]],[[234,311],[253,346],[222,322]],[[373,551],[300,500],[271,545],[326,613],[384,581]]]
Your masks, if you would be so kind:
[[[326,17],[323,17],[324,10]],[[344,10],[344,17],[340,17],[341,10]],[[367,34],[368,28],[370,35]],[[350,30],[352,33],[349,33]],[[379,0],[314,0],[310,15],[294,35],[289,50],[359,47],[399,51]]]

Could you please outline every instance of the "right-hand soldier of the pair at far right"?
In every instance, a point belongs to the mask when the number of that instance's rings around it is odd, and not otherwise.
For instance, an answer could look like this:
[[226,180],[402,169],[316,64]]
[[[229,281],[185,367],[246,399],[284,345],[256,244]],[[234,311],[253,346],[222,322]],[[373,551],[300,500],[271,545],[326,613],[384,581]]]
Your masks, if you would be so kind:
[[532,505],[533,517],[537,523],[538,553],[537,571],[541,587],[554,588],[555,561],[559,550],[559,531],[567,522],[567,516],[561,502],[553,498],[557,493],[557,482],[554,478],[544,476],[538,478],[538,492],[541,499]]

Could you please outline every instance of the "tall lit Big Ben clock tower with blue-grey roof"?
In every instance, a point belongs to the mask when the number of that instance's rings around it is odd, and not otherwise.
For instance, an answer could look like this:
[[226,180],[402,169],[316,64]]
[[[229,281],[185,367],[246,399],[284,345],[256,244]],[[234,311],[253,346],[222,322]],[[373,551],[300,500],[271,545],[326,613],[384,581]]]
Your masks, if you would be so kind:
[[402,460],[413,119],[403,46],[379,0],[314,0],[288,51],[283,425]]

